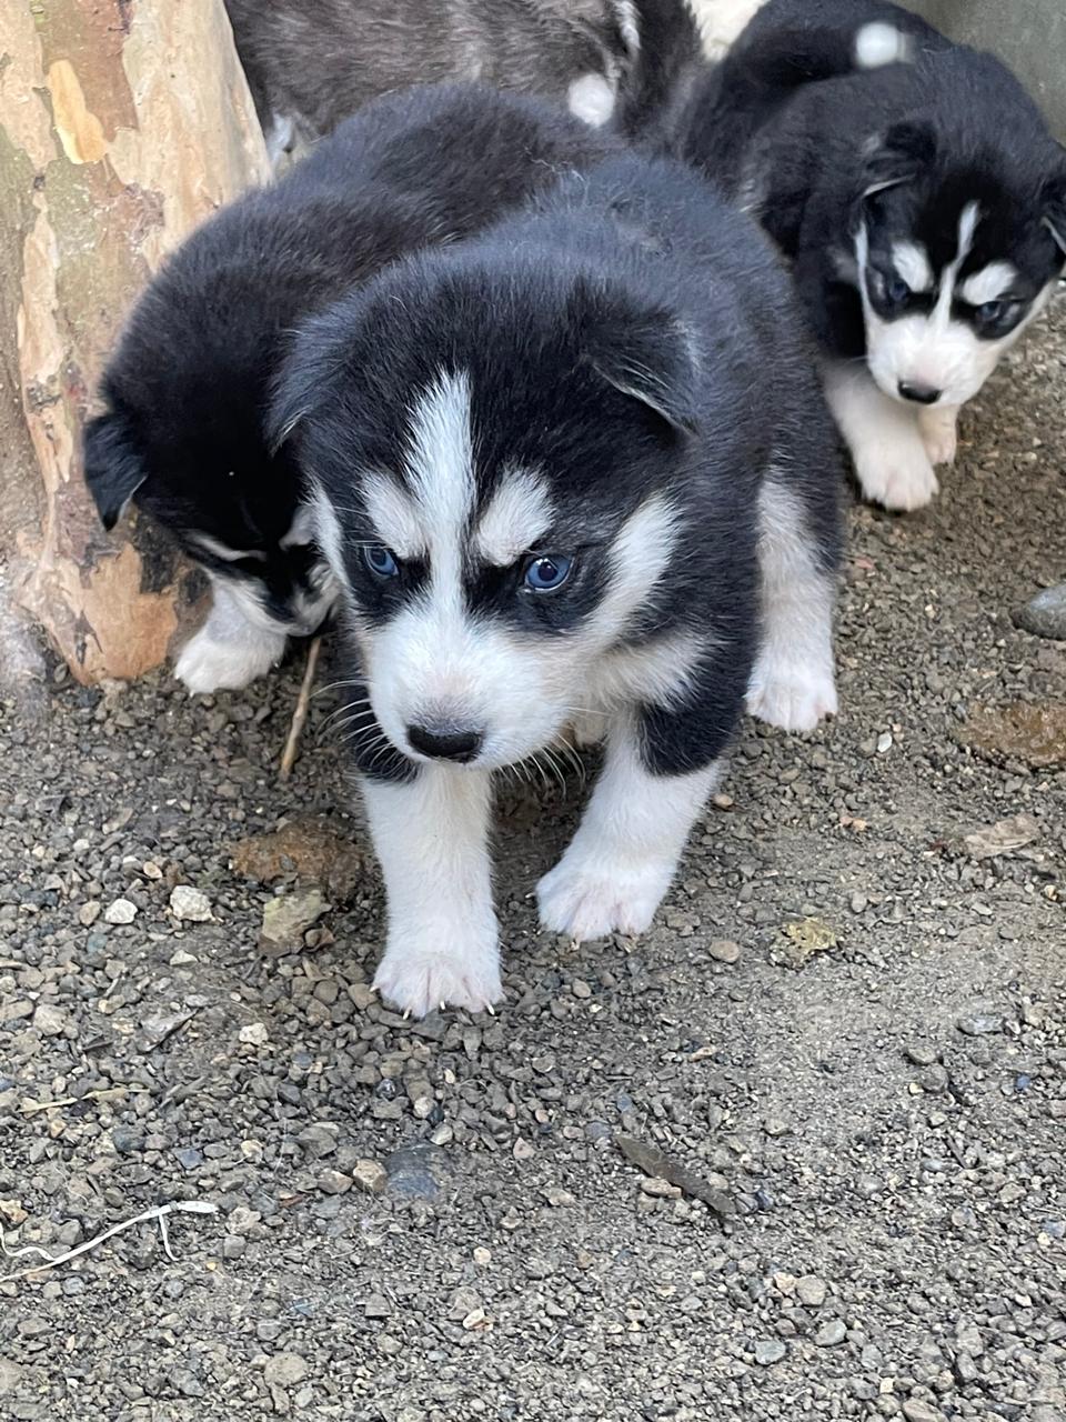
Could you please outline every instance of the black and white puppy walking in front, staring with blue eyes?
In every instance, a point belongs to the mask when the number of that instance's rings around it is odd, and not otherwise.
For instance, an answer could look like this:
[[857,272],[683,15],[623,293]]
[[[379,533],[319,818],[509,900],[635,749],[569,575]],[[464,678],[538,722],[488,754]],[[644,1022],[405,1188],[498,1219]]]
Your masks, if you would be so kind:
[[836,710],[840,468],[787,276],[681,165],[627,155],[313,319],[274,425],[341,587],[388,894],[382,994],[500,997],[495,771],[605,766],[544,927],[648,927],[745,705]]

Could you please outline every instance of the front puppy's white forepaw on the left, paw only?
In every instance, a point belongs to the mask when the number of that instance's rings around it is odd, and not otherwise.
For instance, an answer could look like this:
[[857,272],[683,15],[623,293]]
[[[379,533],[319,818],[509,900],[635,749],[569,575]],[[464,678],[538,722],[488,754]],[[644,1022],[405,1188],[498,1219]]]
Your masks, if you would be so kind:
[[378,964],[374,987],[384,998],[411,1017],[425,1017],[438,1007],[465,1007],[483,1012],[503,997],[500,951],[496,936],[492,944],[478,948],[424,947],[425,939],[389,940]]

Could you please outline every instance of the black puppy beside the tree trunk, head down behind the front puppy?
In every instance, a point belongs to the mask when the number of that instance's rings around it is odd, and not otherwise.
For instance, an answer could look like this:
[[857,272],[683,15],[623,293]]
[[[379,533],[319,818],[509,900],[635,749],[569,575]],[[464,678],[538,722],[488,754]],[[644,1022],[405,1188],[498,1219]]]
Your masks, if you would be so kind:
[[482,85],[391,95],[220,212],[155,277],[107,367],[85,478],[107,528],[132,498],[210,577],[212,611],[176,665],[190,691],[246,685],[333,604],[298,472],[263,429],[297,321],[614,146]]

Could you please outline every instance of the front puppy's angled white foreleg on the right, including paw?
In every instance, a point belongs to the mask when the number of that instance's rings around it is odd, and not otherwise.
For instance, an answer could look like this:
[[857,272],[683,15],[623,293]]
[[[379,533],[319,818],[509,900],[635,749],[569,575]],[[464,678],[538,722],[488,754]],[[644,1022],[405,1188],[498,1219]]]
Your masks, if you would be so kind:
[[647,724],[611,725],[607,761],[584,818],[537,884],[540,921],[573,939],[642,933],[669,887],[692,823],[714,789],[716,762],[684,775],[648,769]]

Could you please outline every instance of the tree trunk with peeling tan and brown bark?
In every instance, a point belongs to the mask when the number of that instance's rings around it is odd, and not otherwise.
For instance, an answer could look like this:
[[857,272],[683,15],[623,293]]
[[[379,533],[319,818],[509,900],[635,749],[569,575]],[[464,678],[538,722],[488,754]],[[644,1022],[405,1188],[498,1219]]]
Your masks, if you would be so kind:
[[267,176],[222,0],[1,0],[0,562],[82,683],[158,665],[190,602],[151,528],[99,528],[99,374],[165,255]]

